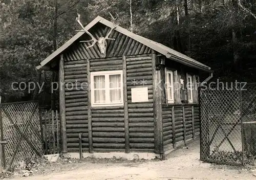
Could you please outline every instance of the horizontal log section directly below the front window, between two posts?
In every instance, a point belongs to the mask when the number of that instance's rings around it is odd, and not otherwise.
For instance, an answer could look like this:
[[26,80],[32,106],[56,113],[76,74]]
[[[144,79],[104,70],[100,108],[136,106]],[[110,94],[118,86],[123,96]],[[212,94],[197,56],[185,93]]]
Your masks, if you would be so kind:
[[93,151],[124,152],[124,110],[120,107],[92,107]]

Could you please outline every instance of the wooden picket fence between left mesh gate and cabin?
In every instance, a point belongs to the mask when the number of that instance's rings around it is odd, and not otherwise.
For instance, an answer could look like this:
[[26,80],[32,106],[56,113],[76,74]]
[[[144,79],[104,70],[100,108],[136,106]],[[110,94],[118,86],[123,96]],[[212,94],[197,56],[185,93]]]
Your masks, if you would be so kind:
[[58,111],[41,111],[43,139],[45,154],[59,153],[60,140],[60,118]]

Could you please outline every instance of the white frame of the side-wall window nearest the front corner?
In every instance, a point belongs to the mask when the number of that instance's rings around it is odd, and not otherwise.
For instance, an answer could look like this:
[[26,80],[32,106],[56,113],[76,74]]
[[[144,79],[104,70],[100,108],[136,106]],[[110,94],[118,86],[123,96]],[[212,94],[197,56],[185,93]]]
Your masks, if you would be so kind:
[[[169,74],[171,76],[170,84],[169,84]],[[167,96],[167,103],[174,104],[175,97],[174,97],[174,71],[165,69],[165,80],[166,80],[166,96]],[[169,87],[172,87],[173,91],[169,91]]]

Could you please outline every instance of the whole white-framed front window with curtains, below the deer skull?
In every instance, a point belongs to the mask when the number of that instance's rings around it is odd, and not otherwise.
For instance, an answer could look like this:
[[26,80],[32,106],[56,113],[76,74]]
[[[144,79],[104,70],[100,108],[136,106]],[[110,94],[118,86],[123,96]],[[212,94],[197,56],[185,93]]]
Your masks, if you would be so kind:
[[91,73],[92,106],[123,105],[122,71],[101,71]]

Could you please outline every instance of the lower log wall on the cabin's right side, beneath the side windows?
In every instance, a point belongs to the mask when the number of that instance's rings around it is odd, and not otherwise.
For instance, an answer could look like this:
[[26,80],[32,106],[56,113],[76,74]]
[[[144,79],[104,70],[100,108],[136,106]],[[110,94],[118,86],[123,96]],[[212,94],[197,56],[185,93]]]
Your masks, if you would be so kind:
[[198,104],[162,105],[164,151],[195,140],[200,134]]

